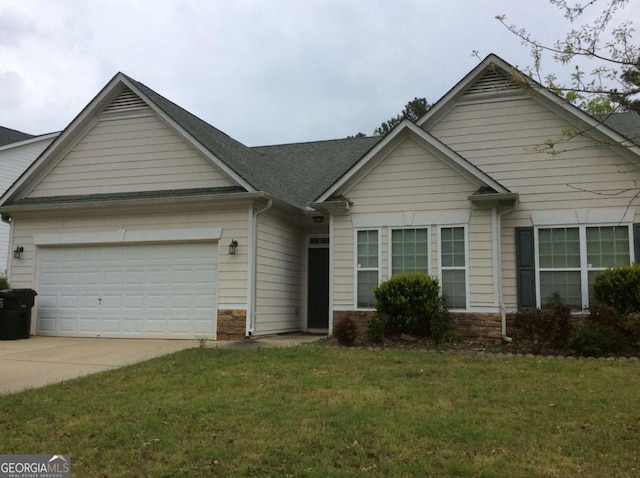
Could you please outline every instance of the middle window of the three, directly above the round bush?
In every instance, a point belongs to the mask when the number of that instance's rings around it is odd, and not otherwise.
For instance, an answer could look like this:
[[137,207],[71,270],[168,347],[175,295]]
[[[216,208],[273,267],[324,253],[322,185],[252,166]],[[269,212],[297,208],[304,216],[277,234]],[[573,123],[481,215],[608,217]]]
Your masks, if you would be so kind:
[[391,230],[391,275],[429,274],[429,229]]

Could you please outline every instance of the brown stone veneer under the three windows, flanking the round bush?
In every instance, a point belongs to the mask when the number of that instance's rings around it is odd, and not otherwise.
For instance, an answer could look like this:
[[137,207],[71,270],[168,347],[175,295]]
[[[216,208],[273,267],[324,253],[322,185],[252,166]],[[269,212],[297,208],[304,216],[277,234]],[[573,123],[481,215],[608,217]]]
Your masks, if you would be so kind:
[[[350,317],[358,326],[358,339],[366,340],[369,320],[375,315],[375,311],[369,310],[341,310],[333,313],[333,323]],[[485,340],[495,343],[502,340],[500,314],[452,312],[451,315],[454,331],[463,339]]]

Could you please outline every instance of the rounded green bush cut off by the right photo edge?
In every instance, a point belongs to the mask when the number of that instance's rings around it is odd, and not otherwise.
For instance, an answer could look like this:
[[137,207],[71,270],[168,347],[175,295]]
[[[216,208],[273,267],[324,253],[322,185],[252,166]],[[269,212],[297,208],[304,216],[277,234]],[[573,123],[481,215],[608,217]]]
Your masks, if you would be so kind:
[[634,263],[599,272],[593,292],[598,301],[621,314],[640,312],[640,265]]

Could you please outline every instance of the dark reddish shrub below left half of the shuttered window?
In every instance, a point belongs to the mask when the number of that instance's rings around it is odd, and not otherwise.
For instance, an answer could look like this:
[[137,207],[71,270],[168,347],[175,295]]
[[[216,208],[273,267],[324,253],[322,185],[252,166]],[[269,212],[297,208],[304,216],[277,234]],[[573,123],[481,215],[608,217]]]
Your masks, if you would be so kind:
[[540,354],[544,349],[566,348],[571,336],[571,306],[557,300],[543,309],[518,311],[513,319],[516,339]]

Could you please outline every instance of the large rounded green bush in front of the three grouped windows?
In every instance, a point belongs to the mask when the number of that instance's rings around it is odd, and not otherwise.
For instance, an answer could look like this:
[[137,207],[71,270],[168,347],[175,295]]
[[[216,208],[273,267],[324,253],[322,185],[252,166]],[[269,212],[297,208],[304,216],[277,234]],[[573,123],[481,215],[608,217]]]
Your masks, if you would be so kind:
[[447,323],[443,319],[446,309],[438,279],[422,272],[405,272],[380,284],[375,290],[375,297],[385,334],[443,334],[442,329]]

